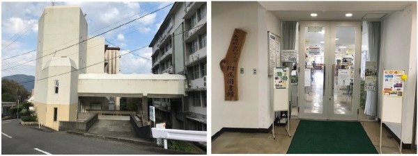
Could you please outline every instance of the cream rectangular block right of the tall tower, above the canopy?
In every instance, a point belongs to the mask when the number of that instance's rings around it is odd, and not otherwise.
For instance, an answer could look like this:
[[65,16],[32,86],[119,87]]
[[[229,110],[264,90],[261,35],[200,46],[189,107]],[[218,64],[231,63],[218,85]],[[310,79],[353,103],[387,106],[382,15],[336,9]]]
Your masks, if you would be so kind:
[[[87,73],[104,73],[104,38],[95,37],[87,41]],[[95,65],[93,65],[95,64]],[[89,67],[91,66],[91,67]]]

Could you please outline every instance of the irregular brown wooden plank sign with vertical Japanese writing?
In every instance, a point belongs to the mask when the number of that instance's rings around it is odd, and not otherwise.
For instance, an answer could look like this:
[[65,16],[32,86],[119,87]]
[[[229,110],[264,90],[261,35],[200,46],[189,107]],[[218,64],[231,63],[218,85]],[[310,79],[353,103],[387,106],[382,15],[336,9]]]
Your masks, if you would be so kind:
[[235,28],[226,56],[219,63],[224,73],[225,101],[238,101],[238,62],[246,35],[245,31]]

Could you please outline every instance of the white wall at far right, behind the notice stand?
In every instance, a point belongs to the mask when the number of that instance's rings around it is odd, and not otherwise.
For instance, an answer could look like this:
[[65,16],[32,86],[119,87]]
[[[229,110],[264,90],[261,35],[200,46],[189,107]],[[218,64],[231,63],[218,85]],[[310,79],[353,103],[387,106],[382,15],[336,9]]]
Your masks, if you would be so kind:
[[[387,124],[400,137],[403,143],[412,142],[413,109],[417,78],[417,8],[408,6],[403,11],[396,11],[384,20],[382,31],[381,70],[402,69],[408,75],[403,96],[402,128],[400,125]],[[380,83],[382,86],[382,83]],[[382,87],[380,87],[382,88]],[[379,95],[381,98],[381,95]],[[379,112],[380,112],[379,103]],[[381,116],[381,114],[379,114]],[[401,131],[402,130],[402,131]]]

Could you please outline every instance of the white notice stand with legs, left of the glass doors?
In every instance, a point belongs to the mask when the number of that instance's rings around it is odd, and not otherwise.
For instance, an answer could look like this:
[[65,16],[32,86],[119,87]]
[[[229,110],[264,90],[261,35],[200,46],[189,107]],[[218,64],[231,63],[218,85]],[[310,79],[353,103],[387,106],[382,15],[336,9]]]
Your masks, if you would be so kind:
[[[273,119],[276,119],[276,112],[278,111],[288,111],[286,116],[288,122],[286,123],[286,131],[288,132],[289,137],[291,137],[291,101],[290,101],[290,88],[291,88],[291,70],[287,67],[275,67],[273,72]],[[274,136],[274,120],[272,125],[272,135],[273,139],[276,139]]]

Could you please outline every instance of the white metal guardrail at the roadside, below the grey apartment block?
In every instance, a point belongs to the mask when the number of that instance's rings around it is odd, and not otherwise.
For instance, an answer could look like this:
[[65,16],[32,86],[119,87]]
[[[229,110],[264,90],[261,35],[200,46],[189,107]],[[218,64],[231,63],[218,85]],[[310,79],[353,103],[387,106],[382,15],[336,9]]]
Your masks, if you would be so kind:
[[151,132],[153,138],[164,139],[164,148],[166,149],[167,139],[198,142],[206,142],[208,139],[206,131],[151,128]]

